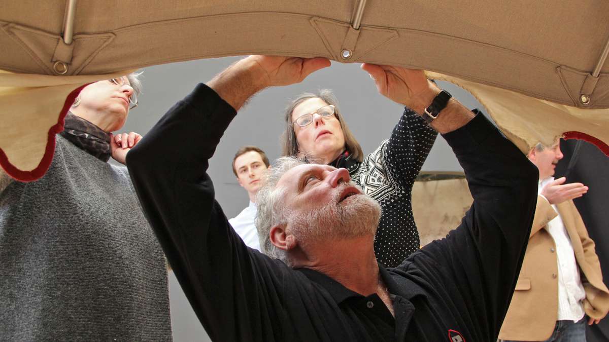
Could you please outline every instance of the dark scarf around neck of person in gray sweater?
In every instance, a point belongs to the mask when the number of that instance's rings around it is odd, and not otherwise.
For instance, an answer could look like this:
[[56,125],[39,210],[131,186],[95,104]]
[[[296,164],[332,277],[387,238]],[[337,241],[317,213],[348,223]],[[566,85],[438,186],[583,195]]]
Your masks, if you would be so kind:
[[82,148],[100,161],[110,159],[112,154],[110,133],[106,133],[91,122],[70,112],[66,115],[63,127],[63,131],[59,133],[63,138],[68,139],[72,144]]

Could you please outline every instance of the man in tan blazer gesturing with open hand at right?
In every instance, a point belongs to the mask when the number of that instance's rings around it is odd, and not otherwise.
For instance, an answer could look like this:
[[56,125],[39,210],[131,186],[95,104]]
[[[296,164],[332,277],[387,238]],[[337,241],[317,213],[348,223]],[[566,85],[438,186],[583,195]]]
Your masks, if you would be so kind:
[[582,183],[554,180],[563,158],[558,142],[538,144],[527,155],[539,169],[537,209],[510,308],[499,338],[504,341],[585,342],[585,324],[609,311],[594,242],[572,199],[588,191]]

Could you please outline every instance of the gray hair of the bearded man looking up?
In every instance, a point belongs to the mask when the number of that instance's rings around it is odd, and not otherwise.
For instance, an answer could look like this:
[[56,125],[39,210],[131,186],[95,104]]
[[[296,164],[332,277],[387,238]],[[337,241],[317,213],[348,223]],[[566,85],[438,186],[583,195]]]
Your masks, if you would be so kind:
[[289,211],[284,206],[284,189],[277,189],[277,183],[288,170],[293,167],[305,164],[303,159],[294,156],[287,156],[277,159],[273,167],[268,169],[262,176],[262,187],[256,194],[256,229],[258,229],[258,239],[262,253],[269,257],[280,259],[287,265],[286,251],[280,250],[270,242],[270,229],[276,225],[286,225]]

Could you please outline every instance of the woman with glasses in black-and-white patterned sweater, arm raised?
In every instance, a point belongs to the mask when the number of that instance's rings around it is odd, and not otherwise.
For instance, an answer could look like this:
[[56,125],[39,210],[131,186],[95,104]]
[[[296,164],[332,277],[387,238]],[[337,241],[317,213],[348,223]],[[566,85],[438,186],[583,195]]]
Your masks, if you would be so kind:
[[344,167],[351,180],[381,204],[375,237],[379,262],[396,267],[420,248],[410,191],[437,132],[409,108],[389,139],[364,156],[329,90],[301,94],[285,112],[283,155]]

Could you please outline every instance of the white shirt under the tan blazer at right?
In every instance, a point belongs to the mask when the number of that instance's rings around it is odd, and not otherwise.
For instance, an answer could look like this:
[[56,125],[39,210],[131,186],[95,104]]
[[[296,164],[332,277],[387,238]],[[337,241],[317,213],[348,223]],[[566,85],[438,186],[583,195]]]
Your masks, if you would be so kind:
[[[554,177],[548,177],[539,182],[538,194],[541,189]],[[552,208],[558,212],[557,207]],[[583,299],[586,293],[583,290],[582,281],[579,276],[579,267],[571,245],[571,239],[566,231],[563,219],[558,216],[547,223],[547,231],[554,239],[556,245],[556,256],[558,262],[558,320],[569,320],[577,322],[585,314],[583,310]]]

